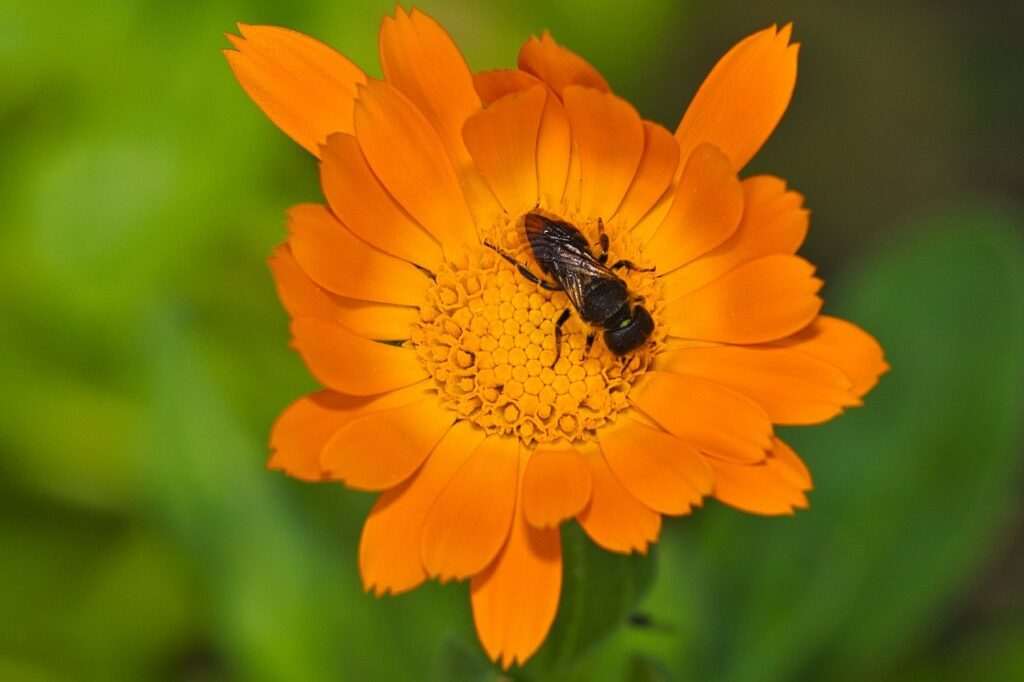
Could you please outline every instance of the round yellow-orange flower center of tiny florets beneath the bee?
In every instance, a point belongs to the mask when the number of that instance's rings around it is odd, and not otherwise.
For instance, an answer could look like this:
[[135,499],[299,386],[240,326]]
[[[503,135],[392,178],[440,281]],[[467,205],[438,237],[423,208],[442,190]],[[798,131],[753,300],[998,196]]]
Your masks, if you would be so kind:
[[[597,245],[596,220],[565,219]],[[605,232],[609,264],[628,259],[649,265],[622,225],[605,224]],[[500,217],[484,237],[551,281],[532,257],[521,219]],[[598,247],[593,251],[596,254]],[[450,257],[436,272],[412,334],[441,401],[488,434],[514,434],[528,447],[593,438],[628,407],[630,387],[650,366],[665,338],[655,273],[624,268],[616,274],[626,281],[631,297],[643,297],[642,305],[654,318],[653,334],[637,350],[616,356],[605,346],[603,330],[588,326],[572,309],[562,326],[556,358],[555,323],[571,308],[564,292],[529,282],[482,245]],[[587,352],[591,333],[596,339]]]

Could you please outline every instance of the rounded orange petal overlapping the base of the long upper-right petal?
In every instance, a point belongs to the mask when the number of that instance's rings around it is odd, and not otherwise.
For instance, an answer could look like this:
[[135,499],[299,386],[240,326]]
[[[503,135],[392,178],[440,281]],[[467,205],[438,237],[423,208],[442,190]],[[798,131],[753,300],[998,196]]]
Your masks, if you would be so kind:
[[658,274],[702,256],[736,231],[743,215],[743,188],[729,160],[711,145],[690,155],[672,208],[644,247],[656,254]]

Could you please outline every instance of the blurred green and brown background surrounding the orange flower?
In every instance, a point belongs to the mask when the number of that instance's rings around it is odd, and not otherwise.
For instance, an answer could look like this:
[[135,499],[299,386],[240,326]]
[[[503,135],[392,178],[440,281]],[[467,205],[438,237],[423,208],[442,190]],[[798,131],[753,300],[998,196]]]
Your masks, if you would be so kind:
[[[1024,679],[1021,4],[420,6],[474,69],[551,29],[670,127],[732,43],[796,22],[748,172],[806,194],[826,310],[894,368],[785,434],[810,511],[711,502],[649,561],[568,532],[565,608],[514,677]],[[263,469],[314,386],[265,259],[319,190],[222,34],[288,26],[379,74],[392,8],[0,0],[0,680],[495,679],[464,585],[362,593],[370,496]]]

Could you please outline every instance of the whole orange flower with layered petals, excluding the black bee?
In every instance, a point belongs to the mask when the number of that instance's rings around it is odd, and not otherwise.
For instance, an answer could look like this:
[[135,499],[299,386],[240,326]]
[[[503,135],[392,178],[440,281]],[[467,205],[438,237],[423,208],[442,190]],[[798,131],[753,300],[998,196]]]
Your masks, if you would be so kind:
[[[790,30],[733,47],[675,134],[547,34],[518,69],[474,75],[433,19],[399,8],[381,27],[383,80],[285,29],[230,37],[236,76],[319,159],[327,199],[291,210],[270,260],[327,388],[281,416],[269,466],[380,493],[359,545],[368,590],[470,579],[477,633],[507,668],[555,616],[562,521],[644,552],[662,515],[708,495],[806,506],[810,475],[773,425],[860,404],[887,365],[819,314],[821,282],[794,255],[803,198],[737,177],[790,101]],[[535,210],[579,230],[590,261],[603,230],[607,262],[635,264],[602,276],[650,312],[639,348],[589,347],[581,300],[504,257],[540,272]]]

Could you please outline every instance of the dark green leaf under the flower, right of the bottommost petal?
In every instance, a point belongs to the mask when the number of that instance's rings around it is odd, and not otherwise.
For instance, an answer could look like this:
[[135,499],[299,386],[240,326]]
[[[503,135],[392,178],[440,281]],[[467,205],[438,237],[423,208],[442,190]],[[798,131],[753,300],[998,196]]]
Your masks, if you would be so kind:
[[654,558],[608,552],[574,523],[562,526],[562,593],[551,633],[523,673],[562,679],[622,627],[653,578]]

